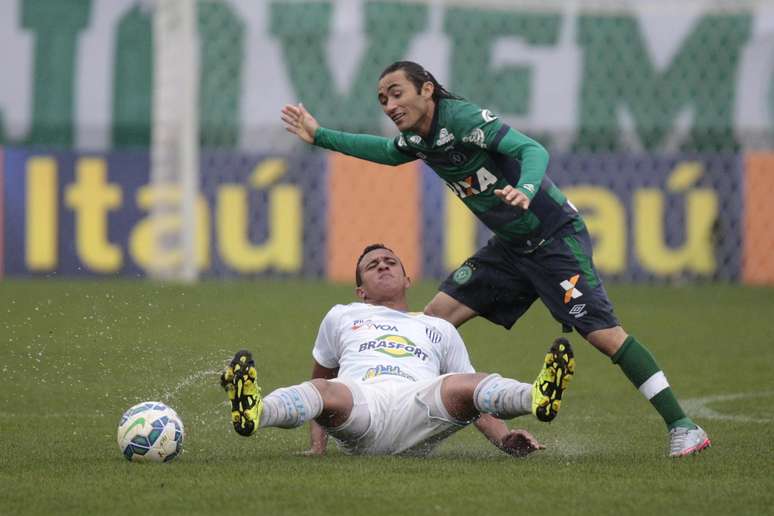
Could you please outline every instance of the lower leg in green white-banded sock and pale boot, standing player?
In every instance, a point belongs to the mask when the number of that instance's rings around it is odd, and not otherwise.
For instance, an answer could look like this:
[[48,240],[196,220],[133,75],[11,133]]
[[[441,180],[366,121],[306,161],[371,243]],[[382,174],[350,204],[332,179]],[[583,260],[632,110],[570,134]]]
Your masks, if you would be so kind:
[[637,339],[629,335],[612,361],[664,419],[670,457],[691,455],[710,446],[707,433],[683,412],[656,359]]

